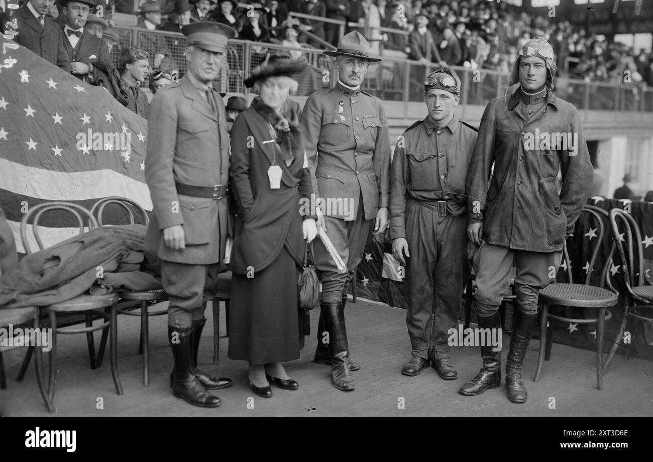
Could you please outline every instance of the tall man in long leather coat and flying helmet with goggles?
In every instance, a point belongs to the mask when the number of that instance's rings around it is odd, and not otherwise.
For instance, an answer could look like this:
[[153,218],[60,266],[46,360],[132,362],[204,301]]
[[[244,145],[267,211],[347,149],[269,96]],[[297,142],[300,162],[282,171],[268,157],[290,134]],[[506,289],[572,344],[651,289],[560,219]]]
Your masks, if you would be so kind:
[[[521,369],[537,319],[539,291],[558,271],[565,238],[592,188],[581,119],[572,104],[553,95],[555,73],[553,48],[544,38],[532,38],[520,48],[509,80],[519,87],[488,102],[467,177],[467,232],[481,245],[475,255],[473,301],[479,328],[500,330],[498,309],[513,262],[517,270],[517,313],[505,364],[505,388],[513,403],[525,403],[528,397]],[[562,133],[571,135],[570,143],[540,142]],[[530,143],[534,137],[537,142]],[[481,346],[481,356],[483,368],[460,388],[463,395],[501,385],[501,351]]]

